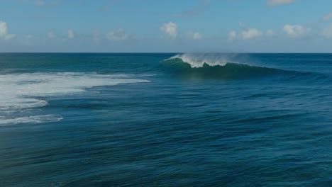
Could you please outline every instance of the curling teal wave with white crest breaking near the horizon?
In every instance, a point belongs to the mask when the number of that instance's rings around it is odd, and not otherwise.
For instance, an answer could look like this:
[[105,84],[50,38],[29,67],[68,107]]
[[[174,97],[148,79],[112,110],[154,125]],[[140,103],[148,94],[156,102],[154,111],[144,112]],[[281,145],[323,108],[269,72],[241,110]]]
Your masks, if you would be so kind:
[[303,77],[309,72],[297,72],[255,66],[240,55],[182,54],[162,61],[162,67],[184,79],[253,79],[260,77]]

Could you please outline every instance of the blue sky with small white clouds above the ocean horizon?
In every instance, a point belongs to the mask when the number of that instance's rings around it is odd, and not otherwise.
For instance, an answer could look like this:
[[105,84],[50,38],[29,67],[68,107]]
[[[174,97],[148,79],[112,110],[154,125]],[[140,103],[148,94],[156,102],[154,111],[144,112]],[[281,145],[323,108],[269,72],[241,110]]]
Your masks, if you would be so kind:
[[331,0],[0,1],[0,52],[332,52]]

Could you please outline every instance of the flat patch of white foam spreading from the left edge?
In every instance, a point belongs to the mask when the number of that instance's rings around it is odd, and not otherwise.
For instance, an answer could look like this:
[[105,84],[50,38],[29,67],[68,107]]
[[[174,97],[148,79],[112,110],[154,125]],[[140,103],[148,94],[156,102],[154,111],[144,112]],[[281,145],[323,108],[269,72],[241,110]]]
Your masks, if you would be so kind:
[[[37,108],[48,104],[40,99],[45,96],[77,94],[93,86],[114,86],[117,84],[148,82],[131,79],[132,75],[94,73],[31,73],[0,74],[0,114],[6,111],[22,111],[24,108]],[[43,121],[50,115],[36,115],[8,118],[0,115],[0,124]],[[1,119],[2,118],[2,119]]]

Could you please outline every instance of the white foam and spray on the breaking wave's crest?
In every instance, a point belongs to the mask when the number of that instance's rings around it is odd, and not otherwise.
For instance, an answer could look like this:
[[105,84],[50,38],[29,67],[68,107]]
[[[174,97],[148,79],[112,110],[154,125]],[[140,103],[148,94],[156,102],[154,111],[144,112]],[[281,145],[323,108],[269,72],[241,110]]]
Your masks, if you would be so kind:
[[[184,53],[170,57],[170,59],[179,58],[183,62],[190,64],[191,67],[203,67],[204,64],[209,66],[225,66],[227,62],[232,62],[236,54],[214,54],[214,53]],[[233,62],[236,63],[236,62]]]

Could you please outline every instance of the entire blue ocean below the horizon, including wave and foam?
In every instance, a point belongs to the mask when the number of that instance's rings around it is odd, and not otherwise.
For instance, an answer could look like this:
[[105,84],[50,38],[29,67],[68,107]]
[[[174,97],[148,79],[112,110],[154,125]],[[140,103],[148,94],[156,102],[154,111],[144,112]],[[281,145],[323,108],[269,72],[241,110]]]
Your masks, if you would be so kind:
[[332,55],[0,54],[0,186],[331,186]]

